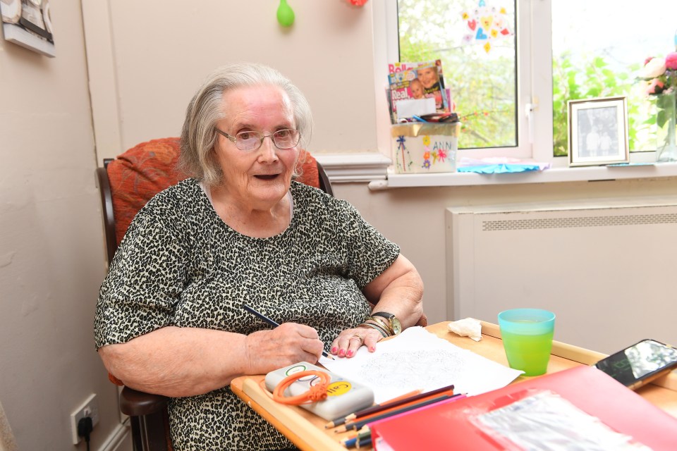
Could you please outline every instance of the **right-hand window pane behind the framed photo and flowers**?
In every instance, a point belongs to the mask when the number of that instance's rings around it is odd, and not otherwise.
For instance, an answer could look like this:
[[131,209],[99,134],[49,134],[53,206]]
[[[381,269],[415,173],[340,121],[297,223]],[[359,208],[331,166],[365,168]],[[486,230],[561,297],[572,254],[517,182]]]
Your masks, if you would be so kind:
[[655,97],[637,74],[645,58],[675,50],[673,1],[552,2],[554,154],[567,154],[566,101],[626,96],[630,152],[656,149]]

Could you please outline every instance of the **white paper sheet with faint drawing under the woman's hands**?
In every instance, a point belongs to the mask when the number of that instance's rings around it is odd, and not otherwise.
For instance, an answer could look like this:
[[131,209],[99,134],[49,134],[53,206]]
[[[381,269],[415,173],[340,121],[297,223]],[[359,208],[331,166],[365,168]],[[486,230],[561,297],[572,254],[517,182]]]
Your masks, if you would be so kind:
[[350,359],[322,358],[325,368],[374,390],[374,402],[384,402],[412,390],[424,392],[454,385],[454,393],[479,395],[511,383],[522,371],[463,350],[412,327],[396,338],[379,342],[375,352],[361,347]]

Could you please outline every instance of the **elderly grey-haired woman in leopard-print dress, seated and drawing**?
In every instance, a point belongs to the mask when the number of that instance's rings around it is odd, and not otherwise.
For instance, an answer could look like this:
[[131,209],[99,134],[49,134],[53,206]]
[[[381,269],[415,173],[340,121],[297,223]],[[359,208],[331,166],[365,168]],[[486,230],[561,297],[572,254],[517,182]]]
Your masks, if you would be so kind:
[[186,113],[190,178],[139,212],[102,284],[99,354],[130,388],[171,397],[175,450],[291,447],[231,380],[323,350],[373,351],[422,315],[422,281],[398,246],[348,202],[293,180],[310,123],[276,70],[217,70]]

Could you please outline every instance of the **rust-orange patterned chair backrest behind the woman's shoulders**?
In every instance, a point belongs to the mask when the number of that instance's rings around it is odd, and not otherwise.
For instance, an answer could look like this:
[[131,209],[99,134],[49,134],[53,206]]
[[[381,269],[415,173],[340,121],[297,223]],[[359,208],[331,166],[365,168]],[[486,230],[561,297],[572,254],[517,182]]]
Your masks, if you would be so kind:
[[[179,152],[179,138],[162,138],[137,144],[108,164],[118,245],[151,197],[186,178],[176,170]],[[303,174],[298,181],[319,188],[315,157],[301,150],[299,160]]]

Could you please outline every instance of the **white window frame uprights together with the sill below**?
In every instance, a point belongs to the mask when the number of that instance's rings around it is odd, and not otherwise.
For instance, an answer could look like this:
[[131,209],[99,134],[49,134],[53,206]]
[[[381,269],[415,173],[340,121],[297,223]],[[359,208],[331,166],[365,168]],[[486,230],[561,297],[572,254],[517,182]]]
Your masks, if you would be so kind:
[[[377,145],[382,154],[391,156],[390,120],[384,89],[388,63],[399,59],[397,1],[373,1],[374,86],[377,107]],[[459,150],[463,156],[511,156],[550,163],[539,173],[485,175],[473,173],[396,174],[388,175],[388,186],[488,185],[503,183],[544,183],[563,181],[609,180],[616,178],[655,178],[677,175],[677,163],[657,165],[585,168],[568,167],[568,157],[553,156],[552,131],[552,42],[551,0],[517,0],[517,133],[518,146],[498,149]],[[538,37],[538,39],[535,39]],[[635,152],[631,163],[655,161],[655,152]],[[384,187],[379,184],[379,187]]]

